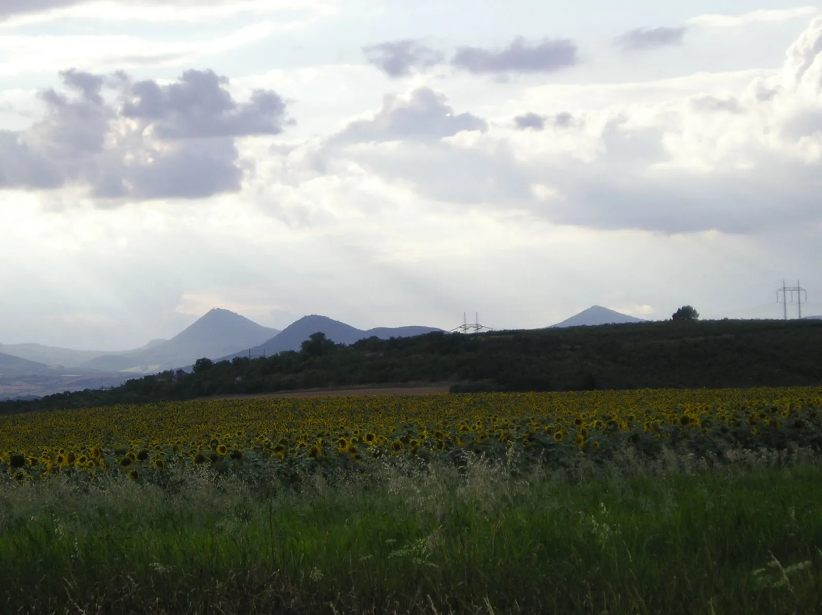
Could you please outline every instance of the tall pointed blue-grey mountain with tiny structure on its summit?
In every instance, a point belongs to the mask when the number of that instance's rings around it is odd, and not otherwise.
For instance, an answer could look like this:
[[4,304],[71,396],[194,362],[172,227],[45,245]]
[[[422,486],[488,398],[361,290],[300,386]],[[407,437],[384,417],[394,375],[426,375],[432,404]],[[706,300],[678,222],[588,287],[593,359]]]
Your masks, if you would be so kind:
[[141,349],[106,354],[85,368],[150,373],[190,365],[198,358],[236,354],[270,340],[279,330],[258,325],[229,310],[215,308],[171,340],[155,340]]

